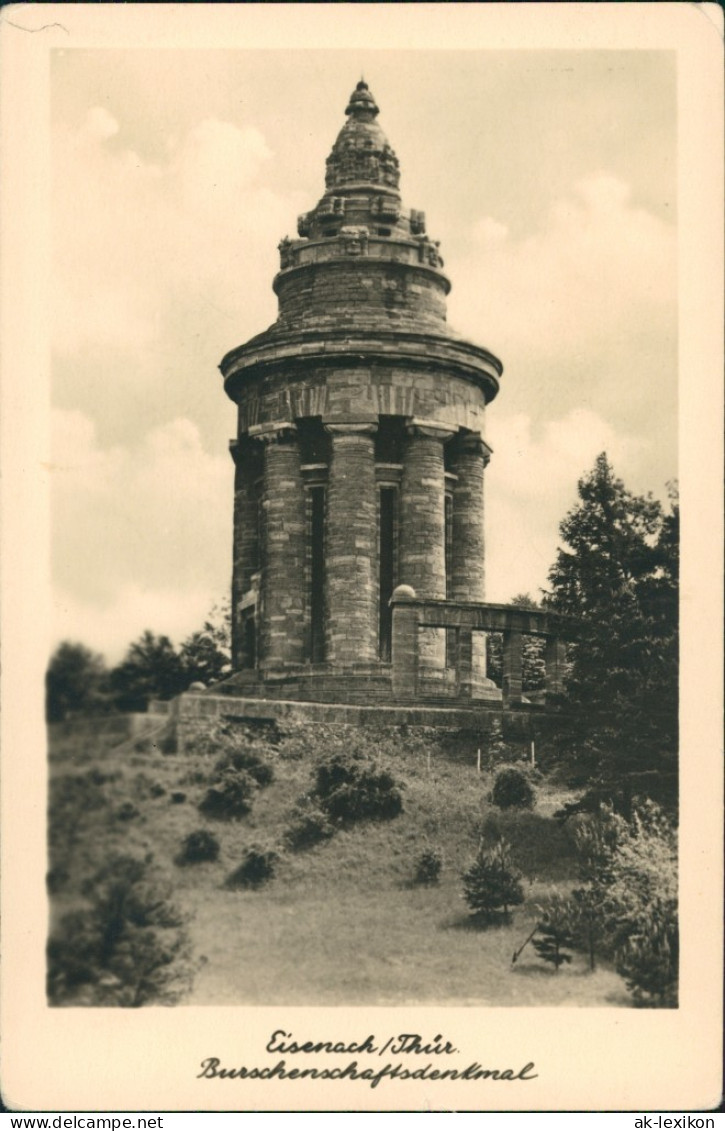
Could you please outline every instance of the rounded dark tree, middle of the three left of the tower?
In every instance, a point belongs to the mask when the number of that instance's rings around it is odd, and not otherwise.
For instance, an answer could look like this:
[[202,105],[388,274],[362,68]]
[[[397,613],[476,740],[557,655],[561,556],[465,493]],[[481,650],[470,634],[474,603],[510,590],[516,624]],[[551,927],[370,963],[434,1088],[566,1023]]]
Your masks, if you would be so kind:
[[121,710],[144,711],[149,699],[172,699],[188,687],[184,666],[169,637],[148,629],[111,672],[110,684]]

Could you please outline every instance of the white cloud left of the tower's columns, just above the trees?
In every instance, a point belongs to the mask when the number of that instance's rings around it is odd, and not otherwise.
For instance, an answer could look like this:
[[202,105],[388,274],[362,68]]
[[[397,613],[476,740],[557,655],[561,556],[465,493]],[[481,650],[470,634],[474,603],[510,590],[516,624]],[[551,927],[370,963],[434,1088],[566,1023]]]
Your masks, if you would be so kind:
[[118,653],[145,628],[193,631],[231,576],[233,468],[175,420],[102,449],[80,412],[53,414],[54,639]]

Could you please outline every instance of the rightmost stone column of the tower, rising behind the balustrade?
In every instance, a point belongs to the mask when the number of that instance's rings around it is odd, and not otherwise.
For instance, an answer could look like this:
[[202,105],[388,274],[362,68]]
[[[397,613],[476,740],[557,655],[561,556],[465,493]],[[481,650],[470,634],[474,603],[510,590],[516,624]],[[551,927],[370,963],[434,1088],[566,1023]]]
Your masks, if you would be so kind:
[[[452,545],[448,595],[451,601],[485,601],[485,543],[483,473],[490,449],[475,432],[455,441],[451,470]],[[472,688],[492,688],[486,679],[486,633],[474,632],[472,641]]]

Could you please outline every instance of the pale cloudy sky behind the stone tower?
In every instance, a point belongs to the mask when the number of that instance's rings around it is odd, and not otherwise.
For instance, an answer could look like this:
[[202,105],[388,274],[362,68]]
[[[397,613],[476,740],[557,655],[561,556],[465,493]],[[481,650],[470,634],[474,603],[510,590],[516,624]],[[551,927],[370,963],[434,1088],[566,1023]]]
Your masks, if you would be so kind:
[[277,243],[325,187],[361,74],[501,357],[487,599],[545,585],[577,480],[676,467],[668,51],[53,52],[53,642],[176,642],[231,580],[224,353],[276,317]]

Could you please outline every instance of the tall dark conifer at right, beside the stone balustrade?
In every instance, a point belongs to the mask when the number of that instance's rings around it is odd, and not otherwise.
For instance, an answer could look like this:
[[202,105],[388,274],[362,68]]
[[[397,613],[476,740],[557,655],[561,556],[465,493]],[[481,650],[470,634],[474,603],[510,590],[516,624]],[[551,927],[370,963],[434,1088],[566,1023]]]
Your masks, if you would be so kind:
[[632,494],[604,454],[578,493],[546,598],[579,622],[554,748],[576,782],[625,811],[637,796],[674,804],[676,498],[665,513],[650,495]]

